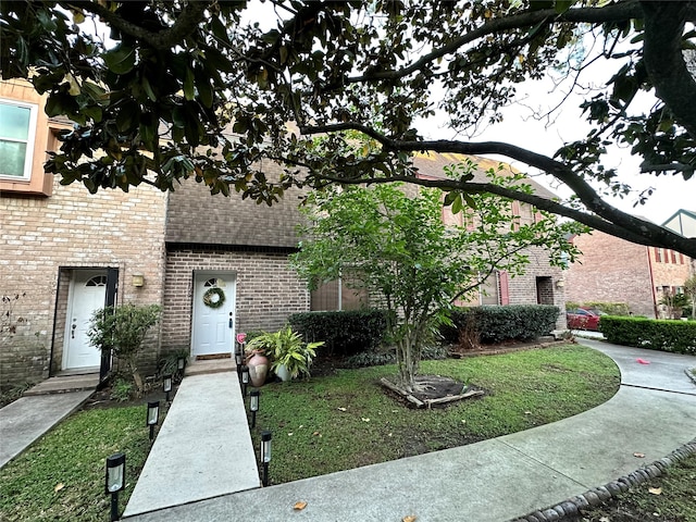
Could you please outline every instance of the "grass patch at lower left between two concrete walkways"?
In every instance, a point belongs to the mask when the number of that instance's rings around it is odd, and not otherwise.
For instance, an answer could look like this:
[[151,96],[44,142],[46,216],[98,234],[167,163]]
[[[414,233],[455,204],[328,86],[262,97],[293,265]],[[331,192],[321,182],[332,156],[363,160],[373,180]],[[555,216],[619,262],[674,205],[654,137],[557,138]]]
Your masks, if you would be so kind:
[[80,411],[0,470],[0,520],[108,521],[105,459],[126,453],[126,506],[149,451],[146,408]]

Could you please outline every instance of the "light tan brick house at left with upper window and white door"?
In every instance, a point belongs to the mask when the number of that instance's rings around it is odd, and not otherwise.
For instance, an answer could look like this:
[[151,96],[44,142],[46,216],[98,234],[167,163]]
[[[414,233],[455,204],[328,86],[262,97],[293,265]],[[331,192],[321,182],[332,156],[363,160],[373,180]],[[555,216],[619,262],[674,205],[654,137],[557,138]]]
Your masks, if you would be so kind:
[[[22,82],[0,83],[0,294],[23,296],[3,318],[16,333],[0,334],[0,386],[98,369],[86,337],[91,312],[115,299],[161,302],[166,196],[59,185],[42,164],[65,125],[49,121]],[[132,285],[135,274],[142,287]]]

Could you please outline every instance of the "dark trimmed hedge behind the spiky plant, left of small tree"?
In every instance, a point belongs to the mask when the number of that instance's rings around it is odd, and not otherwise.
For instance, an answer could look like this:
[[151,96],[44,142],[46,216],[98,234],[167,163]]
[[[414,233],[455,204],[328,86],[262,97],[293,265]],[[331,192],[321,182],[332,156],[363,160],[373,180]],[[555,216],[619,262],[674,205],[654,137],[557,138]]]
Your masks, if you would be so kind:
[[375,349],[387,327],[386,312],[377,309],[294,313],[288,322],[306,343],[323,340],[322,351],[335,356]]

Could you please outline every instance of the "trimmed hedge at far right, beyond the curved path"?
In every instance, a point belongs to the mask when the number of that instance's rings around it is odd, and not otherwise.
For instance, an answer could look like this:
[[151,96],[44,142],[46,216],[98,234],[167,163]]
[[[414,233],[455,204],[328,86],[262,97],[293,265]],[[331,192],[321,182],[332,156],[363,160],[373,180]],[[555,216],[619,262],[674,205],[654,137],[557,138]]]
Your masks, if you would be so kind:
[[609,343],[696,355],[696,322],[602,315],[599,331]]

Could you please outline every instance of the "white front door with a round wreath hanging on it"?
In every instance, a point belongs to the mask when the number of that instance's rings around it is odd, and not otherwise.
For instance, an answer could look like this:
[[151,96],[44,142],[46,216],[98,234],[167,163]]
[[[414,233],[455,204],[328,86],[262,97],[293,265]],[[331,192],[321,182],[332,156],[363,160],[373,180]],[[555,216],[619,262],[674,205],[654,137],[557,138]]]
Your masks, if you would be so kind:
[[234,326],[234,274],[196,274],[191,355],[232,353]]

